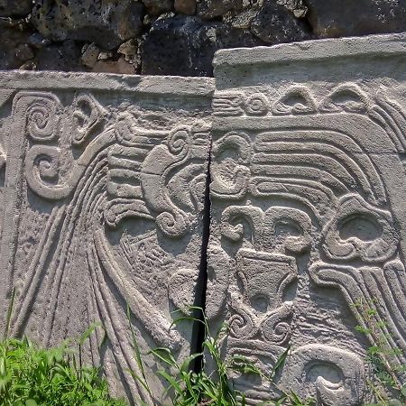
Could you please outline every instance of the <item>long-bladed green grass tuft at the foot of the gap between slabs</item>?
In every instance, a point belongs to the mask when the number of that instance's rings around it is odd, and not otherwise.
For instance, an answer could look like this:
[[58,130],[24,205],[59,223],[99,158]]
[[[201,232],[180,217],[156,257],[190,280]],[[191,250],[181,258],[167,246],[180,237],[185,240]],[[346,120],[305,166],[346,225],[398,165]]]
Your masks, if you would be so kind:
[[[285,359],[289,355],[289,349],[281,355],[273,366],[271,374],[264,374],[254,362],[242,355],[232,355],[228,359],[224,359],[221,354],[221,343],[228,334],[226,324],[213,337],[210,334],[208,320],[204,311],[197,307],[191,307],[190,309],[198,310],[202,314],[202,319],[181,317],[176,319],[173,324],[183,320],[202,323],[205,329],[203,352],[192,354],[181,363],[176,360],[168,348],[159,347],[149,352],[165,366],[156,373],[168,383],[168,389],[163,393],[162,398],[166,397],[168,392],[171,392],[170,398],[173,406],[245,406],[245,393],[235,388],[233,379],[230,377],[230,373],[233,372],[259,375],[262,379],[277,387],[273,381],[277,372],[283,367]],[[132,374],[134,379],[142,383],[143,387],[152,394],[145,374],[143,374],[142,356],[134,332],[133,341],[137,364],[140,371],[142,371],[142,376],[134,374],[134,372]],[[204,369],[198,372],[193,371],[193,362],[203,356],[210,358],[214,364],[211,373],[207,373]],[[281,399],[278,401],[265,401],[262,403],[263,406],[311,406],[314,404],[313,399],[302,401],[294,392],[286,393],[279,388],[277,389],[281,392]],[[143,406],[148,405],[143,403]]]

